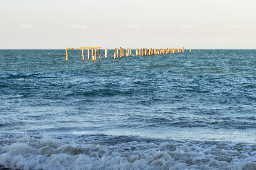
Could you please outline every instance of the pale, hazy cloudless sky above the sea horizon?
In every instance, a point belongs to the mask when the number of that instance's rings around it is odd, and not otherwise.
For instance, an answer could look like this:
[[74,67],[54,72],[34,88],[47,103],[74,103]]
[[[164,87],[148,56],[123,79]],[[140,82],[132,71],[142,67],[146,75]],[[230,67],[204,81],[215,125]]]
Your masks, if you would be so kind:
[[255,6],[255,0],[0,0],[0,49],[255,49]]

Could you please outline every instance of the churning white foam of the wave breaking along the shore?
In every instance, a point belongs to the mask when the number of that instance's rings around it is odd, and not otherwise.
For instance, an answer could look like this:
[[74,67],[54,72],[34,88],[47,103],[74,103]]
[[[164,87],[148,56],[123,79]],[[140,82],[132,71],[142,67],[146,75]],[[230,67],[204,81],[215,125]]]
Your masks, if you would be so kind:
[[256,169],[256,149],[234,143],[64,143],[43,135],[1,139],[0,168],[10,169]]

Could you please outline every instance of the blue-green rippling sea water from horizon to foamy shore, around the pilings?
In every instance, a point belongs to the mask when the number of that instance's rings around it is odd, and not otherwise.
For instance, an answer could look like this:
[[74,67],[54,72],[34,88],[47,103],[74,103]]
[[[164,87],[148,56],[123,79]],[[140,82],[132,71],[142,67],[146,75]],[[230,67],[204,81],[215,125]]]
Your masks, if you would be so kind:
[[81,53],[0,50],[0,169],[256,169],[256,50]]

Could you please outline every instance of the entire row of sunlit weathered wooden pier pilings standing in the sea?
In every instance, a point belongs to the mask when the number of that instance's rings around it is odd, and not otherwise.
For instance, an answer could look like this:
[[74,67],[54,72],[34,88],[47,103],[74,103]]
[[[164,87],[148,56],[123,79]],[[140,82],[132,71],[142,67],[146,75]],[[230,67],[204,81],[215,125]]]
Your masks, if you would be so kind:
[[[74,50],[74,49],[82,49],[82,60],[85,60],[85,49],[87,49],[87,55],[88,55],[88,60],[90,60],[90,49],[91,49],[91,56],[93,62],[96,61],[97,59],[97,49],[98,49],[98,59],[101,59],[101,47],[80,47],[80,48],[66,48],[66,61],[68,61],[68,50]],[[118,48],[115,48],[114,52],[114,59],[118,58]],[[142,56],[147,56],[147,55],[159,55],[159,54],[169,54],[169,53],[176,53],[176,52],[184,52],[184,47],[183,48],[136,48],[136,55],[142,55]],[[190,47],[190,52],[191,52],[191,47]],[[200,52],[200,50],[199,50]],[[119,53],[120,58],[122,56],[125,56],[125,48],[120,47],[120,53]],[[126,57],[131,56],[131,48],[126,48]],[[134,56],[134,54],[133,54]],[[107,48],[105,48],[105,59],[107,60]]]

